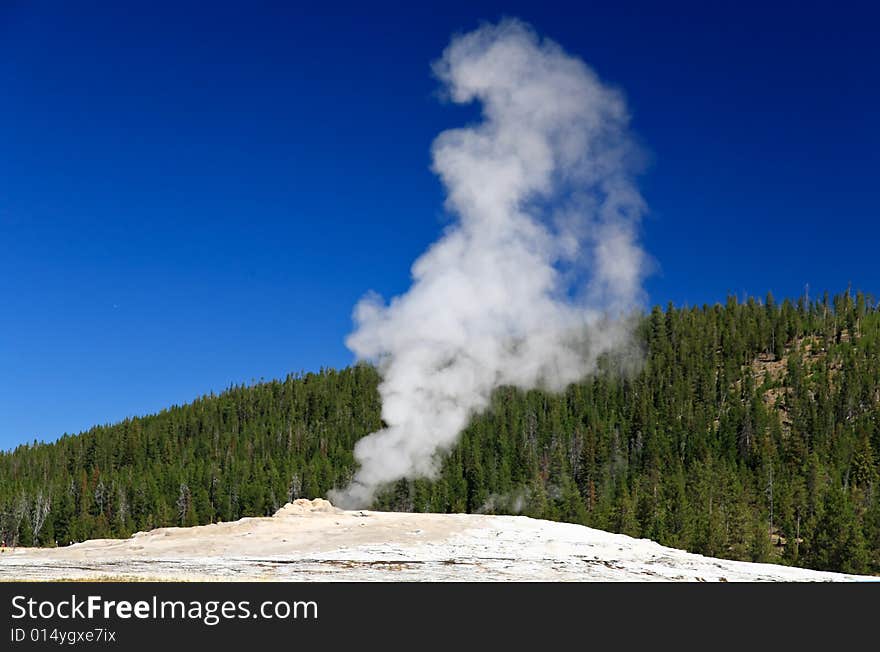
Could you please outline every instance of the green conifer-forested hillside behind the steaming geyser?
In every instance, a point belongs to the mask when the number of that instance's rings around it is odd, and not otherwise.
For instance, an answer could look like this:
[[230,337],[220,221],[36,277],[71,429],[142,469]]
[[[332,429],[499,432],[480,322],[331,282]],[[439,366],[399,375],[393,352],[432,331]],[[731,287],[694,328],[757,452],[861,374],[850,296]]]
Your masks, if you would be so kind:
[[[497,391],[437,480],[400,482],[375,506],[521,510],[718,557],[880,573],[873,299],[655,308],[638,338],[635,374],[606,369],[556,396]],[[380,426],[377,383],[368,366],[291,376],[21,446],[0,455],[0,533],[62,545],[323,496]]]

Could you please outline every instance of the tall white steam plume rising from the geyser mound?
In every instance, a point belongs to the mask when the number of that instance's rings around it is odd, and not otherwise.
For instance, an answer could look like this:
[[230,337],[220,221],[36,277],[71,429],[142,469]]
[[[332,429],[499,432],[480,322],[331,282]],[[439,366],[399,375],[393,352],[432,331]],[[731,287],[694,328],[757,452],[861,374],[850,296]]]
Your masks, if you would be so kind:
[[560,391],[629,341],[641,299],[642,198],[621,94],[580,59],[503,21],[455,37],[434,64],[483,121],[441,133],[433,169],[457,219],[413,265],[409,291],[369,294],[347,345],[375,362],[387,427],[357,442],[367,506],[401,478],[433,477],[492,391]]

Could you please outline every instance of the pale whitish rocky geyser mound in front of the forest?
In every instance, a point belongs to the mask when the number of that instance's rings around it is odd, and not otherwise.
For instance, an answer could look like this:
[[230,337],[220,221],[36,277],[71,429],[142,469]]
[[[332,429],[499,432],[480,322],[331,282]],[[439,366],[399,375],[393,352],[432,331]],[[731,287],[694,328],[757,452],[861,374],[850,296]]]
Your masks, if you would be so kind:
[[297,500],[275,516],[0,553],[9,580],[847,581],[702,557],[525,516],[343,511]]

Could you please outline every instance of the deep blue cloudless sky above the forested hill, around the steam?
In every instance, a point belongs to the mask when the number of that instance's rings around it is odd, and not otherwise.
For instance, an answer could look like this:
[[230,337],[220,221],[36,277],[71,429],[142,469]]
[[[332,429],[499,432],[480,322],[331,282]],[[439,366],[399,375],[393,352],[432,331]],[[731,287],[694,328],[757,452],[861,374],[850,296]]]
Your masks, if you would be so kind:
[[867,4],[296,4],[0,0],[0,448],[348,364],[477,115],[430,62],[504,15],[625,91],[650,303],[880,294]]

